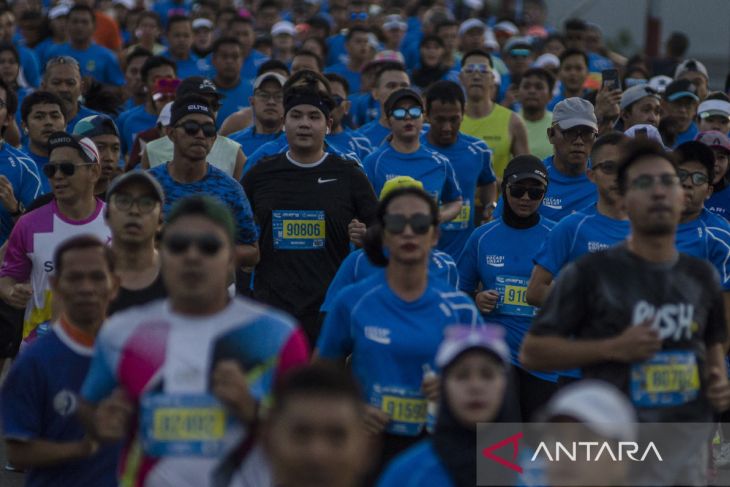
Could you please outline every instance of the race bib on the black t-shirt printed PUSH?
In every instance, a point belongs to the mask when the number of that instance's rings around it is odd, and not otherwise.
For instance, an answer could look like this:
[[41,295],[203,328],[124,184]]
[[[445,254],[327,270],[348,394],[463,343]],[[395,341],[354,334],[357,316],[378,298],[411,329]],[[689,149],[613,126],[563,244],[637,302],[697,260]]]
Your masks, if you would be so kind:
[[697,398],[700,374],[694,352],[659,352],[631,367],[631,399],[637,407],[681,406]]

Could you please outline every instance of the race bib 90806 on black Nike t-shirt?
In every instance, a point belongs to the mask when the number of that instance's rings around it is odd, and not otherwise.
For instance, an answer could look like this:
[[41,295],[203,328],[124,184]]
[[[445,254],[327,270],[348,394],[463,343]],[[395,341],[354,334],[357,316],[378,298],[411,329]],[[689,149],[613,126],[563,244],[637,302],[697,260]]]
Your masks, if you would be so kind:
[[274,210],[271,222],[275,249],[313,250],[324,248],[327,237],[324,211]]

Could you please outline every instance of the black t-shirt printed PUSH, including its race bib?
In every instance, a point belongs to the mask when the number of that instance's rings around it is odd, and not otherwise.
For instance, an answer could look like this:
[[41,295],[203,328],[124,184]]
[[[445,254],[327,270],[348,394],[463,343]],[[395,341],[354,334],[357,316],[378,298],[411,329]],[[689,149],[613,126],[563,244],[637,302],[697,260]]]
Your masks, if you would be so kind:
[[727,333],[719,278],[708,262],[684,254],[673,263],[647,262],[626,245],[587,254],[561,272],[530,332],[602,339],[646,319],[662,338],[654,358],[594,364],[584,376],[623,390],[642,421],[709,419],[706,351]]

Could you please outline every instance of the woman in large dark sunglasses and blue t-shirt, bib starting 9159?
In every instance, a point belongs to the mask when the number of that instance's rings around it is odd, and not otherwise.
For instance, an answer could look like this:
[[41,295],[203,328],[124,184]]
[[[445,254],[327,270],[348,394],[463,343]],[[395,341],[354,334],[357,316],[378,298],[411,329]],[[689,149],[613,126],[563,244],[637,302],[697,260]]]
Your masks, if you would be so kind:
[[438,222],[436,202],[423,190],[388,193],[365,240],[368,258],[385,272],[340,292],[317,342],[322,359],[344,366],[351,356],[367,404],[365,425],[382,435],[381,466],[425,436],[424,383],[436,391],[424,376],[436,368],[444,329],[482,322],[468,296],[429,276]]

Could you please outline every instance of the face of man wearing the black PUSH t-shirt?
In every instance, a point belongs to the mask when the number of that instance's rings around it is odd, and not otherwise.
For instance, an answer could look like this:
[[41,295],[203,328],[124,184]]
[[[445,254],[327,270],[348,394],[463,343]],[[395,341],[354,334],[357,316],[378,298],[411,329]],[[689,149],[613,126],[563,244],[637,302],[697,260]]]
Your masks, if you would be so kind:
[[646,156],[626,173],[623,209],[632,233],[666,235],[675,231],[684,208],[684,191],[672,164]]

